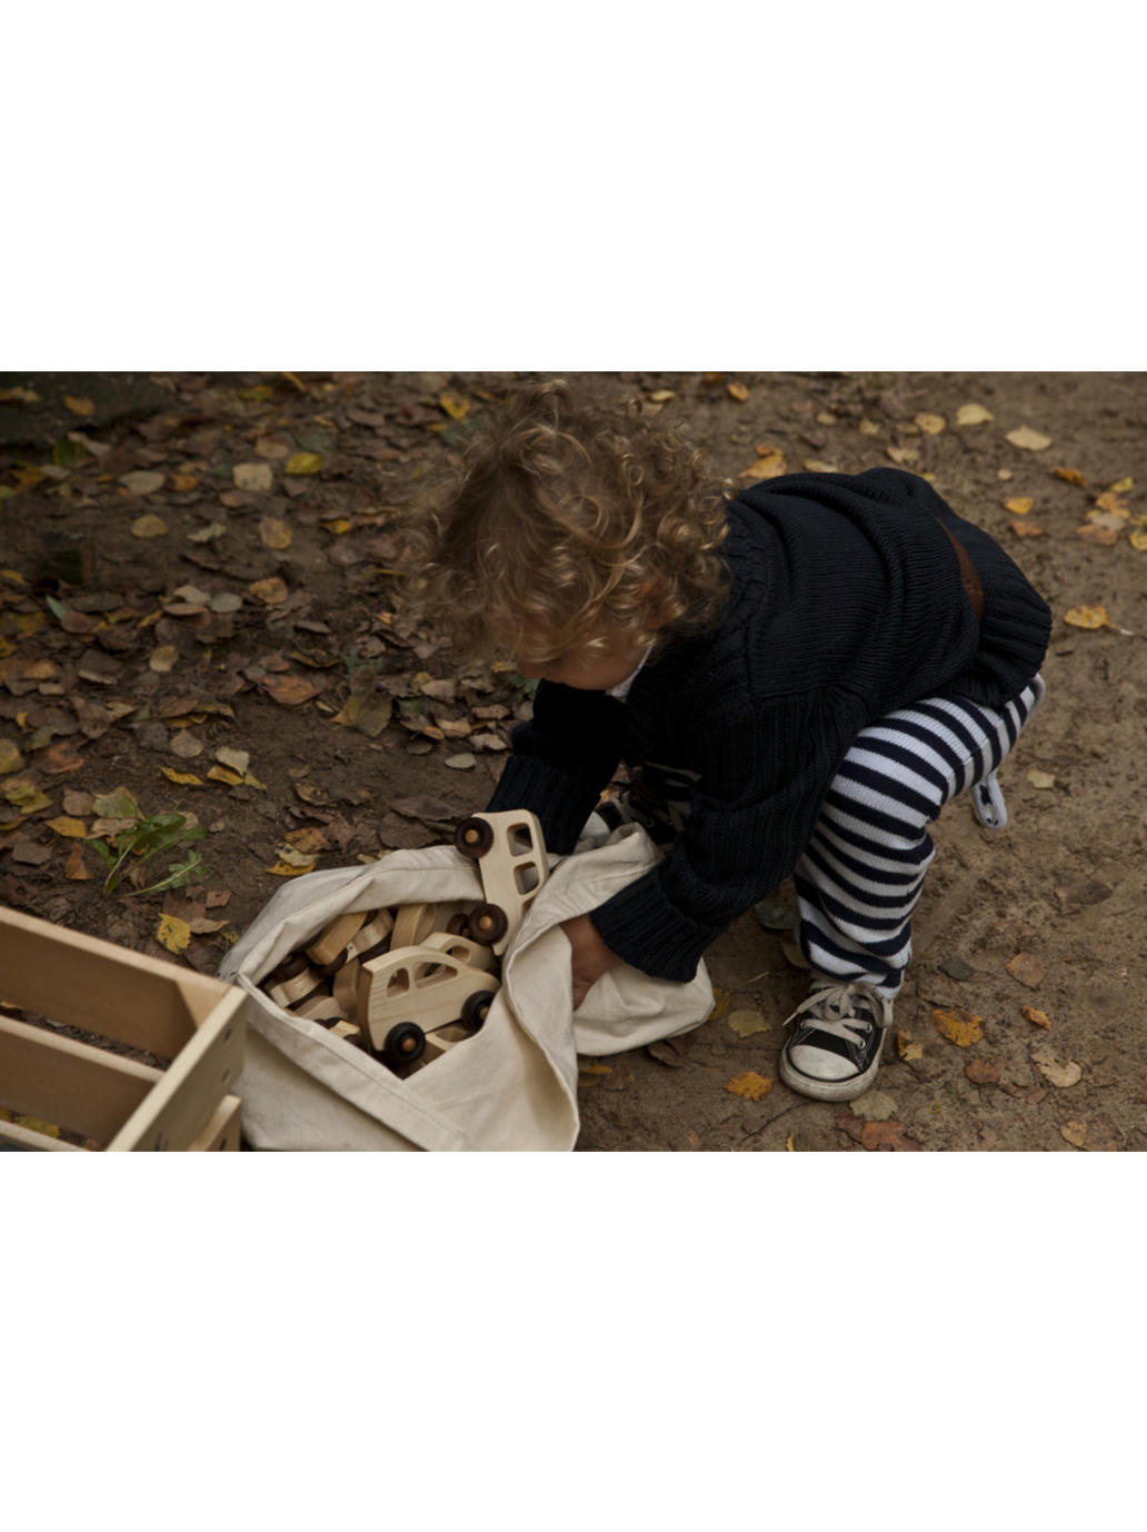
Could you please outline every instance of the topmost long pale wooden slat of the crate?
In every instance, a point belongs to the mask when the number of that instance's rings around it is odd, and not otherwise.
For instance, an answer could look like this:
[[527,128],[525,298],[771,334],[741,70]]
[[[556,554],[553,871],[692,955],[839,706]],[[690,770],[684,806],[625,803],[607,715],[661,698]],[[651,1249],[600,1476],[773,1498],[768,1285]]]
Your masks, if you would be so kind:
[[175,1059],[231,993],[219,979],[0,910],[0,1000]]

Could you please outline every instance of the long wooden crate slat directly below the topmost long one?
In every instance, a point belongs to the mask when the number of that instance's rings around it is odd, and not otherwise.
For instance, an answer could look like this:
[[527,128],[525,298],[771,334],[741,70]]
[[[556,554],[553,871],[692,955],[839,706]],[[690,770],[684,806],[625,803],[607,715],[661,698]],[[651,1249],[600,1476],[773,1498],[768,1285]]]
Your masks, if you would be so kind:
[[159,1069],[0,1016],[0,1106],[107,1143],[164,1080]]

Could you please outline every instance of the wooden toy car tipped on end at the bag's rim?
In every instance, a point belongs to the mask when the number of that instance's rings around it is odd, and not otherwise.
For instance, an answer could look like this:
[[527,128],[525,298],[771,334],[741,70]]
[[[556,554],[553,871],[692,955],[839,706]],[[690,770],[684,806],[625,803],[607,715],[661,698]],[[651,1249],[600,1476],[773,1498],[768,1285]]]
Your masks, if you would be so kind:
[[542,826],[519,809],[473,813],[458,824],[453,843],[478,863],[485,895],[470,912],[466,935],[501,958],[550,875]]

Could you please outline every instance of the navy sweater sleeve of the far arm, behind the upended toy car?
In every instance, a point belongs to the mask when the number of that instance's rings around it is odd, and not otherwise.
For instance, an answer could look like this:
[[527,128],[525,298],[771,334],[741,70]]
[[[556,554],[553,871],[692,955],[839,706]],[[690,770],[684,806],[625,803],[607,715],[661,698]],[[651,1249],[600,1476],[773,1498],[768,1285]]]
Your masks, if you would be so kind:
[[603,691],[541,682],[533,719],[510,735],[513,755],[487,809],[528,809],[547,850],[568,855],[617,771],[622,717],[622,703]]

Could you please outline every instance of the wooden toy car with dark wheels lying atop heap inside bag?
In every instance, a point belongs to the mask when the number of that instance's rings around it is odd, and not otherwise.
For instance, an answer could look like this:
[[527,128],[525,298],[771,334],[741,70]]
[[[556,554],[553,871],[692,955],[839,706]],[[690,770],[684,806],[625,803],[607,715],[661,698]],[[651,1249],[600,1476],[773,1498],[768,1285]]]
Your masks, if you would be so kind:
[[478,1031],[499,988],[492,973],[441,947],[401,948],[363,964],[358,1026],[391,1068],[401,1068],[423,1057],[430,1033]]

